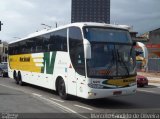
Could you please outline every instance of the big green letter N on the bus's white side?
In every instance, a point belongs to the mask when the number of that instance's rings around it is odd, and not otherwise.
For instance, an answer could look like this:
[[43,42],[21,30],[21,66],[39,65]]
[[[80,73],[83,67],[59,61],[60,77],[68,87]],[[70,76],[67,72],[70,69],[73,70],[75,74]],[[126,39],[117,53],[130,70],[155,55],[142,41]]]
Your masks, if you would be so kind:
[[[41,69],[41,73],[53,74],[54,64],[55,64],[56,52],[46,52],[44,53],[44,62]],[[45,72],[46,71],[46,72]]]

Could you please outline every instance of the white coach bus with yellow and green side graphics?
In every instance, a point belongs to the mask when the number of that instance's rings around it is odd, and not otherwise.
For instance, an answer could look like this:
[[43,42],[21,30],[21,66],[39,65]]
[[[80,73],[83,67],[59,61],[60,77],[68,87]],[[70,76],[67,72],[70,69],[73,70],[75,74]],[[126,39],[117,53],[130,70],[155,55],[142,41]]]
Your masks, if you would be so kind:
[[135,94],[136,54],[129,31],[72,23],[9,43],[9,77],[55,90],[62,99]]

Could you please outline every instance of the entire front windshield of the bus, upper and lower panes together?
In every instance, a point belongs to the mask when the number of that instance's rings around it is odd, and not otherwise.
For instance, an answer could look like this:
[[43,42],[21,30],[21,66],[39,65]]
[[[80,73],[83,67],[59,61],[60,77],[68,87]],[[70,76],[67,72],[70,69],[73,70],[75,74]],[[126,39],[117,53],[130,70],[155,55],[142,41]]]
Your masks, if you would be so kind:
[[[101,28],[98,31],[96,28],[96,33],[93,28],[93,33],[92,28],[88,29],[90,30],[85,30],[85,37],[91,44],[91,59],[87,59],[88,77],[113,78],[136,75],[135,50],[127,31]],[[112,31],[114,33],[111,35]]]

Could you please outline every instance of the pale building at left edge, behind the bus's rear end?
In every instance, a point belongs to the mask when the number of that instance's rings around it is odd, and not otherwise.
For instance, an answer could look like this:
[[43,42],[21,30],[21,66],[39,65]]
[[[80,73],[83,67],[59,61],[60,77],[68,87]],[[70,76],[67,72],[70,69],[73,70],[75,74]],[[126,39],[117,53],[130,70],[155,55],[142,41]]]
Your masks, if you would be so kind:
[[7,52],[8,52],[8,43],[1,42],[1,40],[0,40],[0,63],[7,62],[7,57],[8,57]]

